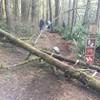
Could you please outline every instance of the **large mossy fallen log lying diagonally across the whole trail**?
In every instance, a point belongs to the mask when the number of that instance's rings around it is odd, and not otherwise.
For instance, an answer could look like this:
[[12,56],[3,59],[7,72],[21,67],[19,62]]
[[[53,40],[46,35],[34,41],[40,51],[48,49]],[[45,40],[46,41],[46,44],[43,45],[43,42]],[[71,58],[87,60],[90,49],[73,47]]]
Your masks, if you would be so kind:
[[87,87],[100,92],[100,81],[99,80],[96,80],[95,78],[87,75],[86,73],[73,68],[71,65],[67,65],[64,62],[61,62],[60,60],[48,55],[47,53],[44,53],[34,48],[28,43],[25,43],[22,40],[17,39],[16,37],[12,36],[11,33],[5,32],[4,30],[0,29],[0,35],[3,35],[4,37],[6,37],[9,40],[9,42],[11,42],[12,44],[19,46],[21,48],[24,48],[25,50],[31,52],[32,54],[41,57],[46,62],[52,65],[55,65],[60,70],[66,72],[66,74],[68,74],[68,76],[70,76],[71,78],[77,79],[78,81],[86,85]]

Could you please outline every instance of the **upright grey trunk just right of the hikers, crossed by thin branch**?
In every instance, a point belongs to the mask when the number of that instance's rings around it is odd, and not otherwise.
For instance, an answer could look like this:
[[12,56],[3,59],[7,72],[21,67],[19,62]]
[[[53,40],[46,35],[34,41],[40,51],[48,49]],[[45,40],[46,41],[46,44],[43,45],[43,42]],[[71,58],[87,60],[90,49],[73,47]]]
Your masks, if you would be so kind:
[[[60,12],[60,1],[55,0],[55,18],[59,16],[59,12]],[[55,20],[55,25],[58,24],[59,24],[59,18]]]

